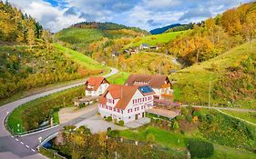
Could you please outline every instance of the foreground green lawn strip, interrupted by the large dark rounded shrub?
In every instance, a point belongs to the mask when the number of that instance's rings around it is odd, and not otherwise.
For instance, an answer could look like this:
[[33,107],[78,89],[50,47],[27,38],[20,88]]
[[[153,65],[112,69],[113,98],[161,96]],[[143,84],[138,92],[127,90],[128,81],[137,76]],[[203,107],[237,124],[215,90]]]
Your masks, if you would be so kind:
[[[155,135],[155,143],[169,148],[185,149],[186,138],[193,137],[188,134],[179,134],[171,131],[162,130],[158,127],[147,126],[141,127],[135,130],[120,131],[120,136],[138,141],[147,141],[147,135]],[[198,135],[195,137],[199,137]],[[253,154],[246,150],[232,148],[225,145],[214,144],[214,154],[209,159],[253,159],[256,158],[256,154]]]

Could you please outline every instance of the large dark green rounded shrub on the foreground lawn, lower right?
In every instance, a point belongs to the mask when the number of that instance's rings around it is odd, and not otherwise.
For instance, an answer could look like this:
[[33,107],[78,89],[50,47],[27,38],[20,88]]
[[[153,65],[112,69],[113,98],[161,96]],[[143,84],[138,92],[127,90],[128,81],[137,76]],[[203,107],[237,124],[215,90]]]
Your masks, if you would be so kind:
[[213,154],[213,144],[201,139],[189,139],[188,148],[192,158],[205,158]]

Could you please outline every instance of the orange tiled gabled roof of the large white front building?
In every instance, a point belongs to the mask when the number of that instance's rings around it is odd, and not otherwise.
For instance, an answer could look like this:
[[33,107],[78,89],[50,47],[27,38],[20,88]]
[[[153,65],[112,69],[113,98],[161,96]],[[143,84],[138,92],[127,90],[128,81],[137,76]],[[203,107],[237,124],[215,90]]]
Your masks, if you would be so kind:
[[[133,95],[136,93],[139,86],[137,85],[118,85],[118,84],[110,84],[108,86],[108,89],[105,91],[104,94],[100,95],[98,98],[98,103],[99,104],[106,104],[107,99],[106,95],[109,93],[114,99],[119,99],[118,104],[116,104],[116,108],[118,109],[126,109],[129,101],[132,99]],[[140,90],[139,90],[140,91]],[[143,95],[148,95],[148,94],[155,94],[154,91],[150,91],[147,93],[142,93]]]

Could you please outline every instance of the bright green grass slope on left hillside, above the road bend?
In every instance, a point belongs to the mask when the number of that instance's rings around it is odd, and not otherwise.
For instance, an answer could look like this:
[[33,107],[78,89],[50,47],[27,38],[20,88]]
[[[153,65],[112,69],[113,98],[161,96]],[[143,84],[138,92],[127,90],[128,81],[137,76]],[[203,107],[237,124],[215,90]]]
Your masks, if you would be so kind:
[[101,70],[106,68],[106,66],[100,65],[99,63],[97,63],[97,61],[93,60],[87,55],[83,55],[82,53],[79,53],[77,51],[71,50],[67,47],[58,44],[56,44],[56,48],[59,51],[63,52],[65,55],[67,55],[67,57],[69,57],[72,61],[76,62],[78,65],[86,67],[87,69]]

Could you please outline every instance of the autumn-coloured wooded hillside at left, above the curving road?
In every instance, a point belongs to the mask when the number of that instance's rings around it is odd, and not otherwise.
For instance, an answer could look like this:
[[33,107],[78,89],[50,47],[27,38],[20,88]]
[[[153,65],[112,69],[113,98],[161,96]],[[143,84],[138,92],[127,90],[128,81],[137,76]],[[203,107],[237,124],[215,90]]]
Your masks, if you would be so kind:
[[0,100],[30,88],[105,71],[85,55],[79,59],[89,60],[77,62],[70,57],[77,53],[52,42],[51,34],[35,19],[8,2],[0,2]]

